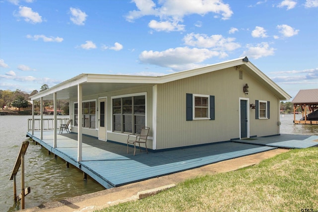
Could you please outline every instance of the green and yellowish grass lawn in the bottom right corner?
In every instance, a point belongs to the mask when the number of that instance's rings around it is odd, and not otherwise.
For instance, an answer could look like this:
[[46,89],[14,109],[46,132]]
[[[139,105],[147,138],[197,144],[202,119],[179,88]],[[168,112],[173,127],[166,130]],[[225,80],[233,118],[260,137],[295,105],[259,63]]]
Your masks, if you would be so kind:
[[[318,211],[318,148],[294,149],[237,171],[187,180],[101,212]],[[303,210],[304,211],[304,210]]]

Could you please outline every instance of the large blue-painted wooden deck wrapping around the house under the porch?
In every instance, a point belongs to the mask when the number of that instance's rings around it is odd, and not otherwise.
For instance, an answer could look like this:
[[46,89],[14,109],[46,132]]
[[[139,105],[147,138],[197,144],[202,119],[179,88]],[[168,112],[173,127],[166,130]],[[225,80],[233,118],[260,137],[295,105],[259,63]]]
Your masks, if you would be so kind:
[[[134,156],[132,147],[127,154],[126,145],[83,136],[82,161],[77,162],[77,134],[58,134],[57,148],[52,147],[53,131],[43,132],[43,140],[39,139],[39,132],[35,132],[33,136],[27,133],[27,136],[65,161],[75,165],[105,188],[113,188],[277,148],[274,145],[265,145],[267,141],[267,144],[284,142],[277,139],[273,141],[274,137],[268,137],[266,139],[257,138],[250,143],[228,141],[191,148],[149,152],[148,154],[137,149],[136,156]],[[308,136],[301,138],[304,140],[312,139]],[[318,138],[315,137],[315,139]],[[296,140],[295,135],[292,135],[289,141],[292,140]],[[300,137],[297,137],[297,141],[300,141]],[[316,141],[312,142],[318,144]]]

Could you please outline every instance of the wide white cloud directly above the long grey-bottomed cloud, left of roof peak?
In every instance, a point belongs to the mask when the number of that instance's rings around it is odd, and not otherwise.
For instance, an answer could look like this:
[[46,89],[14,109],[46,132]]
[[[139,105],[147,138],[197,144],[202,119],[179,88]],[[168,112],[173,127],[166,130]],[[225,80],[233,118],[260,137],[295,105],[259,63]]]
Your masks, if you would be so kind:
[[240,45],[235,43],[235,38],[224,38],[222,35],[194,34],[190,33],[184,36],[184,43],[189,46],[199,48],[212,48],[213,50],[233,51]]

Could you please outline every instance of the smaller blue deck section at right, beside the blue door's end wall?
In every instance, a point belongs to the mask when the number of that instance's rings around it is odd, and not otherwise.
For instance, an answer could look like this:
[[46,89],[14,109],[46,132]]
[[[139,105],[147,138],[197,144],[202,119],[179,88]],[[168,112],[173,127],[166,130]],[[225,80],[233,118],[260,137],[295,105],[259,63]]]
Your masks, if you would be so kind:
[[288,135],[257,137],[247,140],[233,140],[239,143],[275,146],[279,148],[307,148],[318,146],[318,136]]

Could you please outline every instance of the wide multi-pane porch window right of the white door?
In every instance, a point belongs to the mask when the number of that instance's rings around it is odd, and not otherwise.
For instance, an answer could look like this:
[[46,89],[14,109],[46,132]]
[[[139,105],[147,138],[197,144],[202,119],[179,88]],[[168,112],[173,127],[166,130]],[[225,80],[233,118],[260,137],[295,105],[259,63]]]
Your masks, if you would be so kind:
[[141,133],[146,124],[146,96],[126,96],[112,99],[113,131]]

